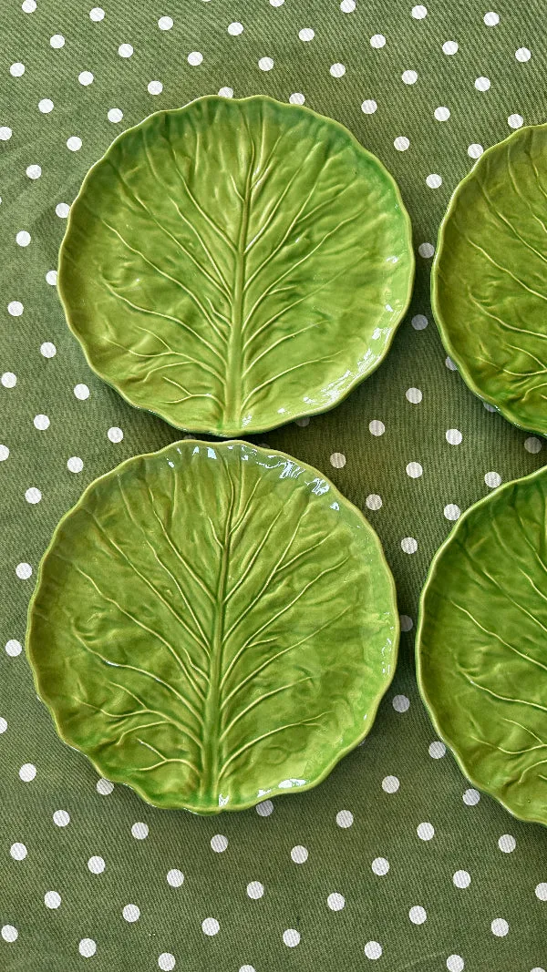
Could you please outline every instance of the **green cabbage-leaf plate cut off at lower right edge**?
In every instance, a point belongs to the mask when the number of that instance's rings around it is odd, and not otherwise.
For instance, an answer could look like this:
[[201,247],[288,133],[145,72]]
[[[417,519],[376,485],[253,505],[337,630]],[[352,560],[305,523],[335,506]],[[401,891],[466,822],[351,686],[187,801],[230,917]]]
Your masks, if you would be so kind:
[[547,469],[471,506],[419,607],[419,688],[463,773],[547,824]]

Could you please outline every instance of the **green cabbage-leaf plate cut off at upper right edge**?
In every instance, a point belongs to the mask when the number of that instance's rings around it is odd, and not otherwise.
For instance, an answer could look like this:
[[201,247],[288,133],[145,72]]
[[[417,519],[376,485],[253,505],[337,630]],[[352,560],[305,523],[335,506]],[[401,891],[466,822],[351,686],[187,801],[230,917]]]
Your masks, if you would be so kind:
[[439,230],[433,313],[469,388],[547,434],[547,125],[481,156]]

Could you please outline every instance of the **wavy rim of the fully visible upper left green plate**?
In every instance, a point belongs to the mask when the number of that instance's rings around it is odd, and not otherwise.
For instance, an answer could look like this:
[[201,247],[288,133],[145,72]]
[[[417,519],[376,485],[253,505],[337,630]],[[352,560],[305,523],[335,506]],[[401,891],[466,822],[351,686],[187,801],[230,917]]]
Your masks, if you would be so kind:
[[[81,198],[83,197],[84,193],[87,191],[88,183],[91,180],[91,175],[94,173],[95,169],[99,165],[101,165],[104,161],[106,161],[108,159],[108,157],[110,156],[110,154],[113,152],[114,148],[118,145],[118,143],[122,139],[125,138],[126,135],[128,135],[129,133],[134,132],[141,125],[145,125],[145,124],[150,123],[153,119],[158,118],[160,115],[175,115],[175,114],[180,114],[181,112],[184,112],[184,111],[188,110],[189,108],[191,108],[193,105],[197,104],[198,102],[200,102],[200,103],[202,103],[202,102],[219,102],[219,101],[227,101],[227,100],[230,101],[230,102],[232,102],[232,103],[235,103],[235,104],[243,103],[243,102],[249,102],[249,101],[265,101],[265,102],[267,102],[269,104],[274,104],[277,107],[280,105],[283,108],[283,110],[286,110],[287,113],[292,113],[292,114],[298,114],[300,112],[305,111],[306,113],[310,113],[316,119],[319,119],[322,122],[325,122],[325,121],[326,122],[329,122],[330,124],[335,125],[337,128],[342,129],[345,132],[345,134],[349,136],[351,142],[361,152],[363,152],[366,156],[368,156],[370,159],[372,159],[375,162],[375,164],[378,166],[378,168],[379,168],[379,170],[381,172],[381,175],[382,175],[383,179],[390,185],[390,187],[394,191],[395,199],[396,199],[397,205],[399,206],[399,209],[400,209],[400,212],[401,212],[401,216],[403,218],[403,224],[404,224],[404,229],[405,229],[405,239],[404,239],[404,241],[405,241],[405,244],[406,244],[406,246],[408,248],[408,252],[409,252],[408,283],[407,283],[407,292],[406,292],[405,299],[404,299],[404,302],[403,302],[403,307],[401,308],[400,313],[396,317],[395,323],[391,326],[391,332],[390,332],[390,334],[388,336],[388,339],[386,341],[385,347],[383,348],[382,354],[379,356],[378,360],[372,365],[372,367],[365,374],[356,375],[355,378],[353,379],[353,381],[346,388],[346,391],[344,392],[344,394],[340,395],[332,403],[329,403],[327,405],[321,404],[317,408],[304,408],[302,411],[298,411],[298,412],[295,411],[295,413],[293,415],[291,415],[288,419],[283,419],[283,417],[280,416],[281,421],[275,420],[274,422],[267,421],[265,423],[257,422],[257,423],[253,423],[252,425],[250,425],[248,427],[245,427],[245,429],[243,429],[242,427],[240,427],[237,430],[237,434],[232,434],[232,433],[230,433],[230,434],[228,434],[228,433],[227,434],[222,434],[222,433],[219,433],[219,431],[217,429],[211,429],[210,426],[208,426],[206,423],[199,423],[199,424],[198,423],[194,423],[192,425],[192,427],[188,427],[188,428],[185,427],[185,426],[175,425],[172,421],[170,421],[164,415],[164,413],[163,413],[163,411],[161,409],[155,410],[153,408],[146,408],[146,407],[144,407],[142,405],[137,405],[133,401],[131,401],[131,399],[128,398],[128,395],[125,392],[123,392],[118,387],[118,385],[116,385],[112,380],[106,378],[104,376],[104,374],[101,373],[101,371],[99,370],[99,368],[96,367],[94,364],[91,363],[91,357],[90,357],[90,354],[88,352],[88,347],[84,344],[84,342],[79,337],[78,333],[76,332],[76,330],[73,327],[73,324],[72,324],[72,321],[71,321],[71,318],[70,318],[69,300],[68,300],[68,298],[65,295],[63,295],[63,280],[64,280],[64,269],[63,269],[63,265],[65,264],[65,260],[66,260],[66,258],[65,258],[65,250],[66,250],[66,246],[67,246],[67,242],[66,241],[69,238],[69,234],[70,234],[70,230],[71,230],[71,227],[72,227],[72,223],[74,222],[74,215],[73,215],[74,214],[74,207],[81,200]],[[269,94],[251,94],[248,97],[244,97],[244,98],[229,98],[229,99],[224,98],[222,95],[219,95],[219,94],[204,94],[204,95],[201,95],[198,98],[193,98],[191,101],[187,102],[187,104],[181,105],[178,108],[165,108],[165,109],[159,109],[156,112],[151,112],[150,115],[147,115],[145,118],[141,119],[140,121],[137,121],[135,124],[129,125],[128,128],[125,128],[124,131],[120,132],[120,134],[116,136],[116,138],[107,147],[107,149],[103,153],[103,155],[100,156],[99,158],[97,158],[95,162],[93,162],[93,164],[91,165],[91,168],[88,169],[86,175],[84,176],[84,179],[82,181],[82,184],[80,186],[80,189],[78,190],[78,193],[77,193],[76,197],[73,199],[73,201],[72,201],[72,203],[70,205],[70,212],[68,214],[68,219],[66,221],[66,227],[65,227],[65,230],[64,230],[64,234],[63,234],[63,237],[62,237],[62,240],[61,240],[59,249],[58,249],[57,274],[58,274],[58,277],[57,277],[56,291],[57,291],[57,294],[58,294],[58,297],[59,297],[59,300],[60,300],[60,303],[61,303],[61,307],[62,307],[62,310],[63,310],[64,319],[65,319],[66,325],[67,325],[68,329],[70,330],[70,332],[74,335],[74,337],[78,341],[78,345],[79,345],[79,347],[82,349],[82,351],[84,353],[84,356],[85,356],[85,359],[86,359],[86,363],[91,368],[91,371],[93,372],[93,374],[95,374],[98,378],[101,379],[101,381],[104,381],[105,384],[108,385],[109,388],[112,388],[118,395],[120,395],[121,398],[124,399],[128,403],[128,405],[131,406],[131,408],[136,408],[139,411],[144,411],[144,412],[146,412],[148,414],[151,414],[151,415],[156,416],[157,418],[161,418],[169,426],[169,428],[176,429],[177,432],[186,432],[186,431],[188,431],[188,432],[191,432],[193,434],[198,434],[198,435],[217,435],[219,438],[223,438],[223,439],[226,439],[226,440],[228,440],[228,439],[235,440],[235,439],[237,439],[237,435],[242,435],[242,434],[255,435],[255,434],[261,434],[261,433],[265,433],[265,432],[271,432],[274,429],[279,429],[279,428],[282,428],[285,425],[290,424],[291,422],[295,422],[299,418],[304,418],[304,417],[308,417],[308,416],[312,417],[314,415],[323,415],[324,413],[331,411],[331,409],[336,408],[337,405],[339,405],[343,401],[345,401],[346,398],[351,394],[351,392],[353,392],[354,389],[357,388],[361,384],[362,381],[364,381],[371,374],[373,374],[377,370],[377,368],[379,368],[380,365],[383,364],[385,358],[387,357],[387,355],[388,355],[388,353],[389,353],[389,351],[391,349],[391,345],[393,343],[393,339],[395,337],[395,334],[396,334],[397,330],[399,330],[400,325],[402,324],[402,322],[404,321],[404,319],[406,317],[407,311],[409,309],[409,306],[410,306],[410,303],[411,303],[411,300],[412,300],[412,296],[413,296],[413,293],[414,293],[415,277],[416,277],[416,255],[415,255],[415,252],[414,252],[414,245],[413,245],[413,226],[412,226],[412,221],[411,221],[411,218],[410,218],[410,214],[409,214],[409,212],[407,210],[407,207],[405,206],[405,203],[403,201],[403,197],[402,197],[402,194],[401,194],[401,190],[399,188],[399,185],[398,185],[397,181],[395,180],[394,176],[391,175],[391,173],[386,168],[386,166],[383,164],[383,161],[378,156],[375,156],[374,153],[372,153],[368,149],[366,149],[365,146],[362,145],[359,142],[359,140],[356,138],[356,136],[353,134],[353,132],[350,131],[349,128],[346,128],[346,125],[345,124],[343,124],[341,121],[337,121],[336,119],[330,118],[328,115],[322,115],[320,112],[314,111],[312,108],[309,108],[307,105],[293,105],[293,104],[290,104],[290,103],[285,103],[283,101],[279,101],[277,98],[274,98],[274,97],[272,97]]]

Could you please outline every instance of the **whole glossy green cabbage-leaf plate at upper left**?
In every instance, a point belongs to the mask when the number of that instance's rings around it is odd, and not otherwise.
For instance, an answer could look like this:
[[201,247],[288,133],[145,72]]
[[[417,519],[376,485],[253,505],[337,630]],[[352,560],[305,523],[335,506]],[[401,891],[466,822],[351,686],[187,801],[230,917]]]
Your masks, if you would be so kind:
[[206,96],[124,132],[74,202],[58,288],[91,367],[179,429],[332,408],[408,305],[411,226],[336,121]]

